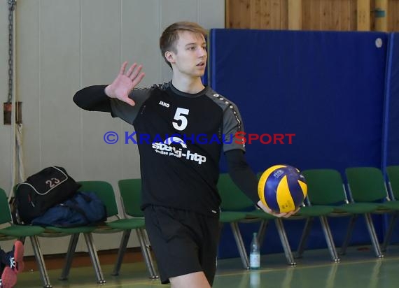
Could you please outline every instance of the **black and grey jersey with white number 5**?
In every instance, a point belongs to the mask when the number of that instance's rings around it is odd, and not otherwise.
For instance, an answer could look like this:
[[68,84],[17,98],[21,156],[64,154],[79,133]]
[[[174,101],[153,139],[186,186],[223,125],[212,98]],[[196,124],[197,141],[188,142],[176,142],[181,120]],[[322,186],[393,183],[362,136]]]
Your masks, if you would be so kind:
[[[101,91],[104,94],[104,88]],[[167,206],[218,215],[221,152],[244,150],[235,138],[243,131],[237,106],[210,87],[187,94],[172,82],[134,89],[130,98],[136,106],[110,99],[98,109],[110,109],[113,117],[134,126],[135,139],[125,140],[139,147],[142,208]]]

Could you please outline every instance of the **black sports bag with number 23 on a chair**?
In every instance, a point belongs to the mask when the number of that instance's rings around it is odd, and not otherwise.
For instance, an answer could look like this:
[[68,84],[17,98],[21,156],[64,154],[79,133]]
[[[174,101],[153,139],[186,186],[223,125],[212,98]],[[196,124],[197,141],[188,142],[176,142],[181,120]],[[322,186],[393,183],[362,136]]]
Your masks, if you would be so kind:
[[71,198],[80,186],[64,168],[44,168],[17,186],[15,213],[23,224],[30,224],[32,219],[43,215],[50,207]]

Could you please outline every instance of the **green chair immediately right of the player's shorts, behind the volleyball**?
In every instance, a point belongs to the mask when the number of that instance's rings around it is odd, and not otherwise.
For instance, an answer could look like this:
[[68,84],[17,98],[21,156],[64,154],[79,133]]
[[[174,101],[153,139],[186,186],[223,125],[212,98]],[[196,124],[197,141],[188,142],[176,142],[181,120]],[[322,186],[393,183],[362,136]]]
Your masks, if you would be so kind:
[[228,173],[221,173],[221,175],[219,175],[218,191],[222,199],[220,222],[222,224],[230,223],[244,268],[249,268],[249,261],[238,223],[260,221],[261,224],[258,232],[258,240],[261,244],[269,220],[274,220],[276,222],[277,231],[279,231],[281,244],[286,253],[288,264],[295,265],[281,219],[269,215],[262,210],[254,210],[255,206],[251,199],[241,192]]

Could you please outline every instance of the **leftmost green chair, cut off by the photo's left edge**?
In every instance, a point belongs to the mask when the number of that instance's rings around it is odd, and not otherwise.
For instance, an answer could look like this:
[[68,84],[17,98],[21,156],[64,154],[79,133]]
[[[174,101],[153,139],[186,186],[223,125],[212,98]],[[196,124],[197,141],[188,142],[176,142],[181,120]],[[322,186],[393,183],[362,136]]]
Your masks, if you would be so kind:
[[43,233],[44,229],[40,226],[25,226],[13,224],[11,218],[10,206],[8,205],[8,198],[6,192],[0,188],[0,241],[11,240],[18,238],[25,242],[25,238],[29,237],[31,245],[34,250],[36,262],[38,264],[39,273],[41,280],[43,281],[43,287],[51,287],[50,279],[45,268],[43,254],[38,243],[38,236]]

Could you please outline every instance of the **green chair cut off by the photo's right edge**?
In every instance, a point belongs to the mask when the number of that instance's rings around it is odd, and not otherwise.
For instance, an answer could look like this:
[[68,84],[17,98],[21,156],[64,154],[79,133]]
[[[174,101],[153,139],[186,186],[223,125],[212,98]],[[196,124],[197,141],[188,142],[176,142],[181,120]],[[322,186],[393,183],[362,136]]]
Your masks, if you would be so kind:
[[399,166],[388,166],[386,167],[386,173],[388,175],[388,187],[389,187],[389,192],[391,194],[389,195],[389,199],[391,199],[390,202],[386,202],[385,205],[391,206],[394,210],[395,213],[391,216],[391,221],[389,222],[388,229],[385,234],[384,238],[384,243],[381,245],[381,250],[386,251],[386,247],[388,246],[391,236],[393,233],[393,228],[395,226],[396,219],[398,219],[399,212],[398,212],[398,207],[399,207]]

